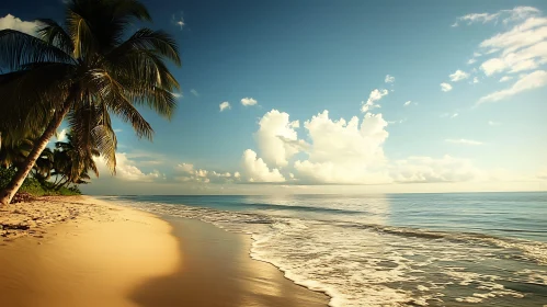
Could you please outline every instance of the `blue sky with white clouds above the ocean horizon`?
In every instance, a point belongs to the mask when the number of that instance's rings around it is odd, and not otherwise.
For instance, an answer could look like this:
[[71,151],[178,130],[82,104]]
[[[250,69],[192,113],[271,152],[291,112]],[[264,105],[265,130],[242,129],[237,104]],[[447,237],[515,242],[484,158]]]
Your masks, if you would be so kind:
[[[153,141],[115,121],[86,193],[547,191],[546,1],[144,3],[180,45],[178,110],[143,110]],[[0,29],[62,5],[2,3]]]

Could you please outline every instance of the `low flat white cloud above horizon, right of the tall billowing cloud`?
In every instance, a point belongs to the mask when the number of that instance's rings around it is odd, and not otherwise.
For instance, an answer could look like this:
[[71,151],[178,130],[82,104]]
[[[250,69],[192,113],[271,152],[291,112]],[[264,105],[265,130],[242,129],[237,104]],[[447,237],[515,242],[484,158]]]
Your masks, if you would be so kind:
[[441,159],[409,157],[397,160],[390,174],[396,182],[424,183],[471,181],[479,178],[480,172],[469,160],[444,156]]

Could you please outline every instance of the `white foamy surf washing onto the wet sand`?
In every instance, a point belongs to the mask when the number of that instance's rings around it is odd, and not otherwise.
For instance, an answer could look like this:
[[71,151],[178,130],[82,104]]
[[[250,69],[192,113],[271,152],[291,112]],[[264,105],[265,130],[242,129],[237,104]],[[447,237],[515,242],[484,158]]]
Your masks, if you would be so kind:
[[[333,307],[494,304],[500,297],[525,299],[521,293],[506,289],[502,280],[534,278],[545,283],[538,273],[542,264],[513,257],[526,252],[515,248],[516,241],[503,246],[491,242],[490,238],[469,239],[465,235],[451,237],[419,229],[354,226],[182,205],[138,207],[162,215],[198,218],[228,231],[252,234],[251,258],[272,263],[299,285],[326,293]],[[537,254],[537,250],[533,252]],[[526,306],[525,302],[511,302]]]

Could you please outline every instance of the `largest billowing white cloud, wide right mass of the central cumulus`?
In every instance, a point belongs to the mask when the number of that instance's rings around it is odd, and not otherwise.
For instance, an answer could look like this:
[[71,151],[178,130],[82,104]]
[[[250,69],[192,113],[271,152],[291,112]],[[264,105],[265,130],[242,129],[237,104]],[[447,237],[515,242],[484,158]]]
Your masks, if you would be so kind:
[[306,121],[304,127],[311,140],[307,160],[294,167],[300,182],[328,184],[386,183],[383,144],[388,137],[381,114],[367,113],[363,122],[354,116],[346,122],[333,121],[329,112]]

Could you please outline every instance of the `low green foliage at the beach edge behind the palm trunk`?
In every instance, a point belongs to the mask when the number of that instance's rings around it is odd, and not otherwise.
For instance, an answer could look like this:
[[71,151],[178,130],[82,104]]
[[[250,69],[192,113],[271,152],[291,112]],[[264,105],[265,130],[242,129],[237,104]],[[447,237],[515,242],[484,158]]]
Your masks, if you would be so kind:
[[[0,190],[8,185],[8,183],[10,183],[11,179],[14,175],[14,168],[0,168]],[[56,189],[56,186],[52,182],[41,182],[33,177],[27,177],[19,191],[29,193],[33,196],[81,195],[80,189],[78,189],[78,186],[61,186],[60,189]]]

